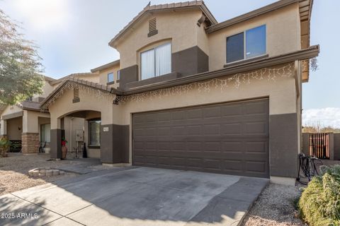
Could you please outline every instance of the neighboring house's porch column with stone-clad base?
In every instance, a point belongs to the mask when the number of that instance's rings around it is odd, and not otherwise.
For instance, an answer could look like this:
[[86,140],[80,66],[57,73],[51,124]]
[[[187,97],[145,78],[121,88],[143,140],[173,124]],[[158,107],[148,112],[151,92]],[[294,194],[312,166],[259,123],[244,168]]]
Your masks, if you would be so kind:
[[21,153],[39,153],[39,146],[38,116],[24,110]]

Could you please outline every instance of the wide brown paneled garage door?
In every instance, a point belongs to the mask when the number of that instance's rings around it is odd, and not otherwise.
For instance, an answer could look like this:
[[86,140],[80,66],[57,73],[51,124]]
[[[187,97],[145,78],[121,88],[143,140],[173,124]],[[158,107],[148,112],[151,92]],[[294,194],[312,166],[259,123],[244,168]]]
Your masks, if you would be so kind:
[[132,115],[133,165],[269,177],[268,99]]

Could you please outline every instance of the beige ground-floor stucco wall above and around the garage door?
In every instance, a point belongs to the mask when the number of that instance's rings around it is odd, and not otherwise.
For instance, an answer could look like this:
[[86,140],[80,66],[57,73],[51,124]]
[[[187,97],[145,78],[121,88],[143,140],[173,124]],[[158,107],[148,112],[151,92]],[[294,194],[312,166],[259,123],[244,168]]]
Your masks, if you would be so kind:
[[[130,125],[130,157],[132,156],[132,114],[136,112],[149,112],[161,109],[171,109],[178,107],[188,107],[195,105],[209,105],[219,102],[233,102],[238,100],[248,100],[261,97],[269,97],[269,114],[289,114],[297,112],[297,98],[295,90],[294,64],[290,64],[293,71],[290,76],[276,75],[275,78],[268,79],[268,73],[263,74],[263,79],[241,78],[241,84],[235,87],[235,82],[229,83],[227,87],[215,85],[215,81],[201,88],[195,88],[183,91],[182,94],[177,92],[169,95],[157,97],[138,97],[138,100],[130,100],[120,105],[114,105],[113,114],[120,115],[123,118],[119,124]],[[278,66],[280,69],[283,66]],[[219,79],[227,79],[221,77]],[[244,82],[243,82],[244,81]],[[221,90],[222,88],[222,90]],[[199,90],[200,89],[200,90]],[[131,159],[130,159],[131,162]]]

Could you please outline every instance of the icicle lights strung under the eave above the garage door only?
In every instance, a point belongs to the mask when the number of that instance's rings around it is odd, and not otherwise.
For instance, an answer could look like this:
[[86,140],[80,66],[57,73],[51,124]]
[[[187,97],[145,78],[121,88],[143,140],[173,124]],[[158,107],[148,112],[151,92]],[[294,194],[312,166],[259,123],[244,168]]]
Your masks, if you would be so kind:
[[129,96],[117,96],[115,101],[120,104],[129,101],[141,102],[172,95],[185,95],[191,90],[197,90],[198,93],[210,93],[210,90],[212,89],[219,89],[222,93],[229,87],[239,88],[242,84],[250,84],[251,80],[276,81],[276,78],[278,77],[291,77],[293,74],[294,64],[292,63],[279,68],[263,68],[249,73],[237,73],[233,76],[227,76],[227,78],[212,78],[209,81],[178,85],[171,88],[163,88]]

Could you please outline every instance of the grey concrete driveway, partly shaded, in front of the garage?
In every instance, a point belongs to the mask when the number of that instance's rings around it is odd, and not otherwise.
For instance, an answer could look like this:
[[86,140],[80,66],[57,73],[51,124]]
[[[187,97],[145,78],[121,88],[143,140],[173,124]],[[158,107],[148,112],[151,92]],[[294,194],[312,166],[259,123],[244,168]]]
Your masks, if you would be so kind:
[[266,184],[268,179],[115,168],[0,196],[0,225],[237,225]]

